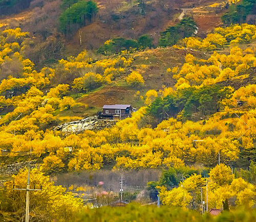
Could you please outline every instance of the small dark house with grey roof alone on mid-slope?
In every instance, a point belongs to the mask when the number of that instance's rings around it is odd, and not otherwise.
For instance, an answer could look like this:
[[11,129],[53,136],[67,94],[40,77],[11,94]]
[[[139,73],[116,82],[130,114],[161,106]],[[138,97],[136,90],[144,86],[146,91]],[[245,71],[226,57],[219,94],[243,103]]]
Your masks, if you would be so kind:
[[132,105],[104,105],[100,114],[101,117],[114,118],[119,116],[120,118],[126,118],[131,116],[133,112]]

